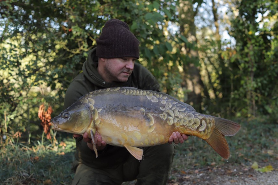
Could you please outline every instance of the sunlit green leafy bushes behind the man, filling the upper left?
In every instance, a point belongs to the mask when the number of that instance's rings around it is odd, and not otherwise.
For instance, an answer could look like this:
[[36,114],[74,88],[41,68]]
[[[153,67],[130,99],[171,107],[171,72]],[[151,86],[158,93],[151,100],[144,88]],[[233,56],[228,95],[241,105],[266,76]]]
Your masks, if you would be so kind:
[[[169,61],[182,57],[173,48],[184,41],[167,31],[168,22],[176,20],[175,6],[148,0],[1,1],[0,130],[29,137],[40,125],[41,104],[51,105],[54,115],[61,112],[66,88],[108,19],[129,24],[141,41],[139,62],[158,80],[175,70]],[[180,84],[173,76],[163,81],[167,92]]]

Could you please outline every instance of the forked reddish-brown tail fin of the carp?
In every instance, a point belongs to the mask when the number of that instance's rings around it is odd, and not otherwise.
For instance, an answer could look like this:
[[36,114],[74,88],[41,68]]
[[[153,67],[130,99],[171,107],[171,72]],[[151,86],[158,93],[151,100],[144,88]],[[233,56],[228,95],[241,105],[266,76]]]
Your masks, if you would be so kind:
[[221,157],[228,159],[230,157],[229,145],[224,136],[233,136],[238,133],[240,125],[234,121],[213,117],[215,128],[211,136],[205,141],[219,154]]

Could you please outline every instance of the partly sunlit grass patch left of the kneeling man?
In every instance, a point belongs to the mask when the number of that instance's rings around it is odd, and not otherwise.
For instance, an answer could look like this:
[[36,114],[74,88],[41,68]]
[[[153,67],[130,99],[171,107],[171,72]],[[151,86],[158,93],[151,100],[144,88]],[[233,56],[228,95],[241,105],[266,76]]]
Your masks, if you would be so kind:
[[71,184],[75,141],[72,138],[63,140],[58,145],[37,141],[29,147],[10,139],[0,150],[0,182],[9,185]]

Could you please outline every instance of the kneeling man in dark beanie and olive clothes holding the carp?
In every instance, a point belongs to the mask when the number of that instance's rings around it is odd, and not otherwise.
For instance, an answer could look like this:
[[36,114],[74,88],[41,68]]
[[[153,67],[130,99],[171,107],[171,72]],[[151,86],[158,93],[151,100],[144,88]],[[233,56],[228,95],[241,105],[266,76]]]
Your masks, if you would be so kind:
[[[139,58],[139,41],[126,23],[111,19],[106,22],[97,47],[90,51],[83,64],[83,72],[74,78],[66,95],[64,107],[72,105],[84,94],[110,87],[135,87],[159,91],[154,76],[142,65]],[[95,134],[98,158],[95,156],[88,134],[74,134],[76,160],[73,162],[73,184],[121,184],[137,179],[136,184],[166,184],[175,155],[171,143],[183,143],[186,135],[174,132],[169,144],[144,147],[144,158],[138,161],[123,147],[106,145],[101,135]]]

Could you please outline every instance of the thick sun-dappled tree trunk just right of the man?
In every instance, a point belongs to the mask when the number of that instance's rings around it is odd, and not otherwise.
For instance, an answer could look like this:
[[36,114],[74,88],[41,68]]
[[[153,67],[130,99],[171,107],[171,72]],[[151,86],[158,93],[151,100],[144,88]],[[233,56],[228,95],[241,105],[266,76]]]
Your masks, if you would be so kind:
[[197,8],[196,11],[193,10],[191,1],[179,1],[178,11],[179,25],[181,25],[180,33],[191,43],[189,46],[187,44],[181,46],[181,51],[187,58],[187,61],[183,62],[184,83],[182,85],[190,90],[187,94],[187,103],[193,105],[197,111],[201,111],[201,92],[204,90],[204,84],[200,76],[200,67],[195,65],[199,62],[198,51],[196,49],[196,25],[194,23]]

